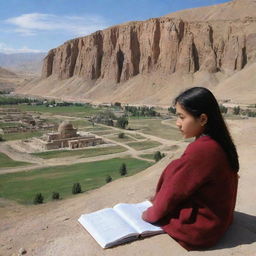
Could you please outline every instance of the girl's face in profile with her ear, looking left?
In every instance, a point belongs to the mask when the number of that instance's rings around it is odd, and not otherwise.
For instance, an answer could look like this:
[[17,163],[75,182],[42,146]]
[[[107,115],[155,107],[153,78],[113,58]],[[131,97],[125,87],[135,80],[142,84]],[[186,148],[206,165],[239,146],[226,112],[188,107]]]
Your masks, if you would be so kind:
[[176,125],[180,129],[183,138],[199,137],[204,131],[204,125],[207,123],[207,116],[201,114],[199,118],[195,118],[188,113],[182,105],[176,104]]

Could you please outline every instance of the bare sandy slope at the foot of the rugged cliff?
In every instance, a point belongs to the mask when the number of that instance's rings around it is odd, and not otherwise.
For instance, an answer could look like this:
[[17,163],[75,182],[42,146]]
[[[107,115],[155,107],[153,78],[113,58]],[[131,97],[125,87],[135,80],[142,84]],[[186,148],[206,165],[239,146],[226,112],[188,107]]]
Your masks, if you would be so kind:
[[152,73],[137,75],[118,85],[105,82],[93,85],[81,77],[74,76],[59,80],[51,76],[47,79],[35,79],[19,86],[16,93],[98,104],[121,102],[168,107],[172,99],[184,89],[204,86],[209,88],[219,100],[230,99],[235,103],[255,104],[255,68],[256,64],[253,63],[230,75],[204,71],[172,75]]

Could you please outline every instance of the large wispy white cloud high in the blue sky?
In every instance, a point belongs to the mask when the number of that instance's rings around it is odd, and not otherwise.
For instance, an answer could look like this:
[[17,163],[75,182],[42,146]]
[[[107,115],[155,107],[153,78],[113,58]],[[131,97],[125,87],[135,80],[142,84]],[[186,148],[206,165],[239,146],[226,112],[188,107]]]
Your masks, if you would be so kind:
[[25,36],[36,35],[39,31],[59,31],[70,35],[88,35],[106,28],[107,22],[97,15],[57,16],[44,13],[28,13],[5,20],[14,25],[14,31]]

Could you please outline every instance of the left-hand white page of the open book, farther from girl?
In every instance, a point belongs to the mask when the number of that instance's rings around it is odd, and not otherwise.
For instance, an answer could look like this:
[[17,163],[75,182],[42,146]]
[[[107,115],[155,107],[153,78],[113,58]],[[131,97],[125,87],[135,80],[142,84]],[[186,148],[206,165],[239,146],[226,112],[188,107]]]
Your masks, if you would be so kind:
[[[112,208],[83,214],[78,219],[83,227],[103,248],[110,247],[120,239],[138,237],[138,232],[129,226]],[[126,240],[124,240],[126,241]]]

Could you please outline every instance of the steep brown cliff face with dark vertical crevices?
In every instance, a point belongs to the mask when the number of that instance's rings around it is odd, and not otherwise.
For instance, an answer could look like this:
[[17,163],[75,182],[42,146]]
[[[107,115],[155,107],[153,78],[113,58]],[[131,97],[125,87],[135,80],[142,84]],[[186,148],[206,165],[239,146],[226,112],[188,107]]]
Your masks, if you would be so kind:
[[256,19],[130,22],[50,50],[42,77],[127,81],[137,74],[236,71],[256,60]]

